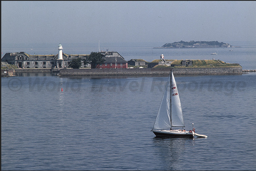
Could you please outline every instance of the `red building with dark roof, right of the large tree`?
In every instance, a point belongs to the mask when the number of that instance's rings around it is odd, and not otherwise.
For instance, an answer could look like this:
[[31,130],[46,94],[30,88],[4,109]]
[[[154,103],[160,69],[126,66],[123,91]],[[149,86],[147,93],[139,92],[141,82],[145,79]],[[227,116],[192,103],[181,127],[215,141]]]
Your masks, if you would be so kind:
[[96,68],[127,68],[127,61],[118,52],[100,52],[105,59],[103,64]]

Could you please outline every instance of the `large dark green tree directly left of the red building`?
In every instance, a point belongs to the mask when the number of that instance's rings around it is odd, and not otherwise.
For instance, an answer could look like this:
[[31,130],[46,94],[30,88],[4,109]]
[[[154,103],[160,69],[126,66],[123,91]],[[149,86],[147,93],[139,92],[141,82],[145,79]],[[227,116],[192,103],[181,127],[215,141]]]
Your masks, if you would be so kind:
[[98,64],[104,63],[105,59],[102,57],[103,55],[101,55],[101,53],[91,52],[91,54],[83,60],[84,65],[91,64],[91,68],[96,68]]

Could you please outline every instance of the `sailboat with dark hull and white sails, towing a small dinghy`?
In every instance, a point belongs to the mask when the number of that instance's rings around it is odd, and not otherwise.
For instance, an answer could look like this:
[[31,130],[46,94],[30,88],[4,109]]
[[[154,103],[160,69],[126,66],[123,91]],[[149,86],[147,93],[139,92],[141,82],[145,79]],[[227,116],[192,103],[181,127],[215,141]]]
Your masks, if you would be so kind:
[[[158,109],[158,114],[155,119],[152,132],[157,137],[207,137],[195,133],[194,123],[193,129],[186,131],[183,120],[183,113],[180,104],[180,97],[177,90],[176,81],[172,70],[167,79],[166,87],[163,93],[163,98]],[[182,127],[182,129],[173,129],[174,127]]]

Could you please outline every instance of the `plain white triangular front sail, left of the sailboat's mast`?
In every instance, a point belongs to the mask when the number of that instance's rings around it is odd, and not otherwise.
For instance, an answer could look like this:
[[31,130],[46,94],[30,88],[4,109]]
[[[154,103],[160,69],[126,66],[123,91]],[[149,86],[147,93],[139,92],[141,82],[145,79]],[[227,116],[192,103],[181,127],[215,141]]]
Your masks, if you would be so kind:
[[155,119],[155,124],[153,129],[166,129],[170,130],[171,128],[171,121],[170,121],[170,87],[171,87],[170,76],[168,77],[166,87],[163,93],[163,98],[158,109],[158,114]]

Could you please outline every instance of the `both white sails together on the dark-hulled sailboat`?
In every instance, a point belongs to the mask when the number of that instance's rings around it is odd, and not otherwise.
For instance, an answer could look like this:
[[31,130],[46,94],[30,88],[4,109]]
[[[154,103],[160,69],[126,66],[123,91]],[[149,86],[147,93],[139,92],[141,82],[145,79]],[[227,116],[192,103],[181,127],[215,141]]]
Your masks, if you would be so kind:
[[173,73],[167,80],[153,129],[170,130],[172,126],[185,127],[181,110],[180,97]]

